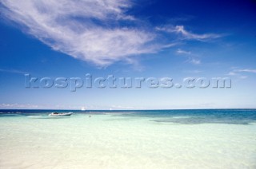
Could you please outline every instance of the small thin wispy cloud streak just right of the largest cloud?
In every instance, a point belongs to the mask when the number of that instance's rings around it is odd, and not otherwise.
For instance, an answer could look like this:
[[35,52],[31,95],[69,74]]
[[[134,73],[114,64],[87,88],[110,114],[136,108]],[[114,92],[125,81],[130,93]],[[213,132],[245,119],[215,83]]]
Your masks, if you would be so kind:
[[180,33],[184,39],[198,40],[198,41],[206,41],[218,37],[222,37],[221,34],[216,33],[203,33],[197,34],[187,31],[184,26],[169,26],[169,27],[157,27],[158,30],[166,31],[168,33]]

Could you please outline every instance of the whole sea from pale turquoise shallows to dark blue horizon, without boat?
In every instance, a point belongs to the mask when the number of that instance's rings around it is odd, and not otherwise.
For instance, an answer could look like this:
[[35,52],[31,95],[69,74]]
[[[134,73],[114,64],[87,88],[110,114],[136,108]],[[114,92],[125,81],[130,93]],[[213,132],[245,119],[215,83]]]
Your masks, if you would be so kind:
[[0,110],[0,168],[256,168],[254,109],[50,112]]

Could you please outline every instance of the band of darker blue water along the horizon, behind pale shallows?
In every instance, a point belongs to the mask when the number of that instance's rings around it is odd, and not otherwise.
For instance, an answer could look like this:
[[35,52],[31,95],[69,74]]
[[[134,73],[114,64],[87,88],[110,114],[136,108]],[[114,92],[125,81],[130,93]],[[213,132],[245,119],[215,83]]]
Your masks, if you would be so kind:
[[133,111],[78,111],[78,110],[0,110],[2,116],[48,115],[50,112],[76,114],[105,114],[127,118],[150,118],[157,123],[175,124],[251,124],[256,123],[256,109],[193,109],[193,110],[133,110]]

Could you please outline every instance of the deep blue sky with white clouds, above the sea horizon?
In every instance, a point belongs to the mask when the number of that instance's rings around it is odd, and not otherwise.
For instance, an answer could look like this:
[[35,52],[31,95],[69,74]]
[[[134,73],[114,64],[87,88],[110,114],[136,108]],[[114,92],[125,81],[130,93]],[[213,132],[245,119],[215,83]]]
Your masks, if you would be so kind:
[[256,108],[255,18],[254,0],[0,0],[0,108]]

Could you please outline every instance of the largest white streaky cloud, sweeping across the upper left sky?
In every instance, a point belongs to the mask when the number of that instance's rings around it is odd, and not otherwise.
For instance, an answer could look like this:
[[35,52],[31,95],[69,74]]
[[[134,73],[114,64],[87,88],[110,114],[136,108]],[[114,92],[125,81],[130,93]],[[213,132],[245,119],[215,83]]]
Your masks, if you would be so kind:
[[118,26],[135,19],[125,14],[132,6],[129,0],[2,0],[2,5],[6,18],[52,49],[96,65],[161,48],[150,45],[154,33]]

